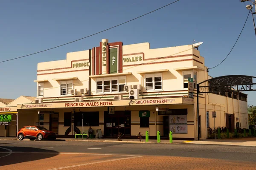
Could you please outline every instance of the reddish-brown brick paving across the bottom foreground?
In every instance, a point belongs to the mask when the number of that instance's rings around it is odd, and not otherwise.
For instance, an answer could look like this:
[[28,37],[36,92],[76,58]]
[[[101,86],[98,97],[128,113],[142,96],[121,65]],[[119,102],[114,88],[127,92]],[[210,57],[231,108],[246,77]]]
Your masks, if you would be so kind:
[[[37,170],[256,170],[256,163],[220,159],[186,158],[174,156],[117,156],[87,154],[55,154],[44,159],[40,153],[12,153],[1,158],[9,165],[0,170],[35,168]],[[50,155],[50,153],[49,153]],[[30,158],[21,163],[15,159]],[[120,160],[121,159],[121,160]],[[1,163],[0,163],[1,164]],[[81,165],[82,166],[74,166]],[[74,166],[74,167],[68,167]]]

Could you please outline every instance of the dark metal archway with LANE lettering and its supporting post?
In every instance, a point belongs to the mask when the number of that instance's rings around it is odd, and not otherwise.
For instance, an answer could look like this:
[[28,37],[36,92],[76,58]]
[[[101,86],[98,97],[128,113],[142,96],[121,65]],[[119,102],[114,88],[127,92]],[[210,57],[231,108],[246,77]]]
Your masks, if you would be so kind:
[[[203,93],[219,93],[219,92],[236,92],[236,91],[256,91],[253,89],[253,76],[245,75],[228,75],[207,79],[197,84],[197,128],[198,128],[198,140],[200,140],[200,124],[199,124],[199,94]],[[208,85],[200,86],[201,84],[208,82]]]

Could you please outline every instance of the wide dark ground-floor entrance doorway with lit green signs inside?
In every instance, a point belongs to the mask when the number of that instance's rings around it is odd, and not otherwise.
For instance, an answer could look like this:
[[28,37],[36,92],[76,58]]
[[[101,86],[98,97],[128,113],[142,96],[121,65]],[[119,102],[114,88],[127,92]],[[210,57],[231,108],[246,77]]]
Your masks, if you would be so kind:
[[122,133],[123,137],[131,137],[131,111],[115,111],[114,114],[104,112],[104,136],[117,137]]

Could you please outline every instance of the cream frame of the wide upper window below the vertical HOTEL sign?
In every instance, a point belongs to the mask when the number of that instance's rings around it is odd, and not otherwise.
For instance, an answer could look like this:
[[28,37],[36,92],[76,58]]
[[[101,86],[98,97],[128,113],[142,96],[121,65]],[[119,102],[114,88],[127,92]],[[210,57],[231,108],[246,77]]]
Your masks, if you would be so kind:
[[[117,81],[117,84],[113,84],[113,85],[117,85],[117,91],[112,91],[112,81]],[[120,80],[125,80],[125,83],[120,83]],[[109,81],[109,91],[105,92],[105,82]],[[126,85],[126,77],[111,77],[111,78],[99,78],[96,79],[96,94],[110,94],[110,93],[122,93],[125,91],[120,91],[120,85]],[[97,85],[97,82],[102,82],[102,85]],[[98,92],[97,91],[97,87],[102,86],[102,92]]]

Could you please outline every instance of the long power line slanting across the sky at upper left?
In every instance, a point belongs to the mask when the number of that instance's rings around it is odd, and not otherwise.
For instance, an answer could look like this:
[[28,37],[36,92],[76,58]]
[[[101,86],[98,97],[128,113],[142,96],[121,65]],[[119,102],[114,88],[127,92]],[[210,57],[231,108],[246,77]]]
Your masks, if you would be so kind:
[[[83,39],[88,38],[88,37],[91,37],[91,36],[93,36],[93,35],[96,35],[96,34],[99,34],[99,33],[105,32],[105,31],[108,31],[108,30],[110,30],[110,29],[112,29],[112,28],[121,26],[121,25],[123,25],[123,24],[125,24],[125,23],[129,23],[129,22],[131,22],[131,21],[133,21],[133,20],[137,20],[137,19],[140,18],[140,17],[144,17],[144,16],[147,15],[147,14],[150,14],[150,13],[152,13],[152,12],[155,12],[155,11],[157,11],[157,10],[159,10],[159,9],[162,9],[162,8],[166,7],[166,6],[172,5],[173,3],[176,3],[176,2],[178,2],[178,1],[179,1],[179,0],[176,0],[175,2],[169,3],[169,4],[165,5],[165,6],[160,7],[160,8],[157,8],[157,9],[155,9],[154,11],[150,11],[150,12],[148,12],[148,13],[146,13],[146,14],[143,14],[143,15],[141,15],[141,16],[139,16],[139,17],[136,17],[136,18],[134,18],[134,19],[132,19],[132,20],[128,20],[128,21],[126,21],[126,22],[124,22],[124,23],[118,24],[118,25],[116,25],[116,26],[113,26],[113,27],[111,27],[111,28],[107,28],[107,29],[105,29],[105,30],[103,30],[103,31],[99,31],[99,32],[94,33],[94,34],[91,34],[91,35],[88,35],[88,36],[83,37],[83,38],[80,38],[80,39],[78,39],[78,40],[74,40],[74,41],[71,41],[71,42],[67,42],[67,43],[65,43],[65,44],[58,45],[58,46],[55,46],[55,47],[52,47],[52,48],[48,48],[48,49],[43,50],[43,51],[38,51],[38,52],[35,52],[35,53],[32,53],[32,54],[28,54],[28,55],[25,55],[25,56],[13,58],[13,59],[7,59],[7,60],[1,61],[1,62],[7,62],[7,61],[14,60],[14,59],[19,59],[19,58],[23,58],[23,57],[28,57],[28,56],[31,56],[31,55],[34,55],[34,54],[42,53],[42,52],[44,52],[44,51],[49,51],[49,50],[52,50],[52,49],[54,49],[54,48],[58,48],[58,47],[67,45],[67,44],[70,44],[70,43],[73,43],[73,42],[76,42],[76,41],[79,41],[79,40],[83,40]],[[1,63],[1,62],[0,62],[0,63]]]

